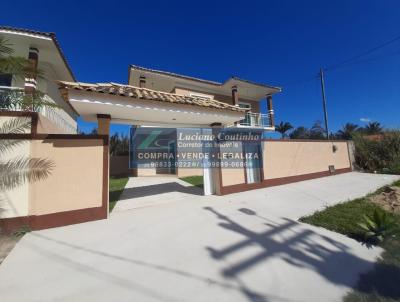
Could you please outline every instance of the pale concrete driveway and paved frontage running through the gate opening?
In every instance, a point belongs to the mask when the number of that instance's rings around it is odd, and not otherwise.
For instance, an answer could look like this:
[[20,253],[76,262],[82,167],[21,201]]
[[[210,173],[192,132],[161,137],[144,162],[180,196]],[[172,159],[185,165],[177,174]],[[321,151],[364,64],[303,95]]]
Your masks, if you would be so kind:
[[128,187],[108,220],[24,236],[0,266],[0,297],[340,301],[381,250],[296,220],[395,179],[348,173],[223,197],[165,178],[152,197]]

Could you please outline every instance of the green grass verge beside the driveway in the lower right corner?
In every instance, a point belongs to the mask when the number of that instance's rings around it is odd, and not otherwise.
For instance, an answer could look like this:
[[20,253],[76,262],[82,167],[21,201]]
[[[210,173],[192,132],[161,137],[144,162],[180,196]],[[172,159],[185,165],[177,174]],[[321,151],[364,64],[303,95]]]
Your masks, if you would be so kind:
[[[400,187],[400,181],[392,185]],[[373,194],[382,191],[381,188]],[[363,221],[364,214],[372,216],[378,208],[367,197],[328,207],[311,216],[302,217],[300,221],[363,241],[363,231],[358,223]],[[360,276],[355,289],[344,298],[345,302],[400,301],[400,216],[392,213],[389,215],[396,222],[395,235],[379,244],[385,250],[381,259],[372,271]]]

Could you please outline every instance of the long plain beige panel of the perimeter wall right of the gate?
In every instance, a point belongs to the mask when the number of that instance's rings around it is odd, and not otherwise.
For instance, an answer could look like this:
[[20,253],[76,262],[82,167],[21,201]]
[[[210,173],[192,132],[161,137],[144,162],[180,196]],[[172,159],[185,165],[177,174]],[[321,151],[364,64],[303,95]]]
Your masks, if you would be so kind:
[[328,171],[329,165],[336,170],[350,167],[346,142],[263,142],[264,179]]

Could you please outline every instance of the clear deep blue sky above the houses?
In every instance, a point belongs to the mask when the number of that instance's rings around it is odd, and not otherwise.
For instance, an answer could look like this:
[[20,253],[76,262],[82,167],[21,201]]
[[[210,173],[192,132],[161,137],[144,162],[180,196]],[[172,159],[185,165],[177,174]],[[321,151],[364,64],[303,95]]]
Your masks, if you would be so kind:
[[[319,69],[400,36],[400,1],[5,1],[0,24],[55,32],[82,82],[127,83],[134,64],[280,86],[276,121],[310,127],[323,120]],[[368,121],[399,128],[400,39],[328,69],[325,84],[331,131]]]

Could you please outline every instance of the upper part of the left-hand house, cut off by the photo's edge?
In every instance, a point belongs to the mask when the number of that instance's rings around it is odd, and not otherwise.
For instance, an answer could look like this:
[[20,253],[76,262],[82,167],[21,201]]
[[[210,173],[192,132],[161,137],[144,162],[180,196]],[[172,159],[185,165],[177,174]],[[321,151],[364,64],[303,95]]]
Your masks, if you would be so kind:
[[[19,78],[11,74],[0,74],[0,109],[4,109],[10,91],[23,94],[38,90],[44,93],[48,102],[56,108],[41,108],[39,132],[76,133],[77,116],[75,109],[61,96],[56,80],[75,81],[70,66],[61,50],[54,33],[0,26],[0,37],[13,49],[12,56],[29,59],[42,75],[39,78]],[[19,110],[19,108],[13,108]]]

